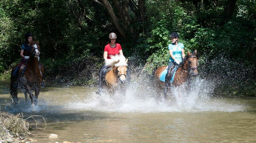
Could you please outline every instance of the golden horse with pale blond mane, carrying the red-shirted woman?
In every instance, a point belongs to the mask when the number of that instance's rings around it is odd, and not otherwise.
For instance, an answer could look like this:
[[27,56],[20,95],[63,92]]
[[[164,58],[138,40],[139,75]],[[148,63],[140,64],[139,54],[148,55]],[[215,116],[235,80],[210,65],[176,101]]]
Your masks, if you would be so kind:
[[124,56],[110,56],[111,59],[105,61],[105,64],[109,66],[109,69],[105,76],[105,81],[107,84],[107,89],[114,93],[117,86],[120,83],[125,83],[127,75],[127,62],[128,59],[125,59]]

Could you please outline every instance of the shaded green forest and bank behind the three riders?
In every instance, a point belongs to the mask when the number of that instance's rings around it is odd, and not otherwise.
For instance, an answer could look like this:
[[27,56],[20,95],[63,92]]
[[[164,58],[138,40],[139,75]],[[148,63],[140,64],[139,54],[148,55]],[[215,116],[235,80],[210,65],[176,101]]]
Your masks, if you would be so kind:
[[20,62],[26,32],[40,41],[47,83],[94,85],[109,33],[117,34],[130,68],[150,75],[167,64],[176,31],[185,51],[197,49],[203,77],[232,83],[219,83],[220,93],[255,95],[255,18],[255,0],[4,0],[0,79]]

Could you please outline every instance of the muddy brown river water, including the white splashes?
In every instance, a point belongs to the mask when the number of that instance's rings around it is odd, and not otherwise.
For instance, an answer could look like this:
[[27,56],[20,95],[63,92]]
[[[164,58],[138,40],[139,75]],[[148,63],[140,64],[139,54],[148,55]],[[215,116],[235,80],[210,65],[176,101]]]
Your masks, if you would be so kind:
[[[24,118],[35,117],[37,142],[255,142],[256,98],[212,95],[211,83],[197,79],[194,88],[172,89],[167,101],[156,100],[155,85],[134,81],[114,97],[94,94],[95,87],[45,87],[38,106],[24,95],[10,104],[8,81],[0,82],[1,107]],[[35,128],[35,121],[29,120]],[[54,133],[58,139],[48,139]]]

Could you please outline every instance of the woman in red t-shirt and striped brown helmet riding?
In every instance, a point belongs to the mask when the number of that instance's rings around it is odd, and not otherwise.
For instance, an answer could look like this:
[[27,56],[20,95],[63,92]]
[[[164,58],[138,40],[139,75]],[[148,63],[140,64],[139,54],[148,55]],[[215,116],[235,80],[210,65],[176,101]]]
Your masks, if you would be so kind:
[[[109,34],[109,40],[110,43],[107,44],[104,48],[103,58],[104,60],[110,59],[110,55],[116,55],[119,54],[120,56],[123,56],[122,47],[120,44],[116,43],[116,33],[110,33]],[[98,90],[96,91],[96,94],[101,94],[102,91],[102,84],[103,84],[103,71],[107,69],[108,66],[103,64],[100,72],[99,72],[99,83],[98,83]]]

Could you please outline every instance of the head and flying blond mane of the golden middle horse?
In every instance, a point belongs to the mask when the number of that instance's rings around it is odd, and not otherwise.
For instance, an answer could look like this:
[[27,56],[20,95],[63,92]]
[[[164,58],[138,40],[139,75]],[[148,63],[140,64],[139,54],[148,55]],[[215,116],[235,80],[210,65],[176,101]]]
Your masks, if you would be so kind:
[[117,77],[119,78],[121,83],[125,83],[126,81],[126,75],[127,75],[127,62],[128,59],[126,59],[124,56],[115,55],[110,56],[111,59],[106,60],[105,64],[111,66],[110,69],[116,69]]

